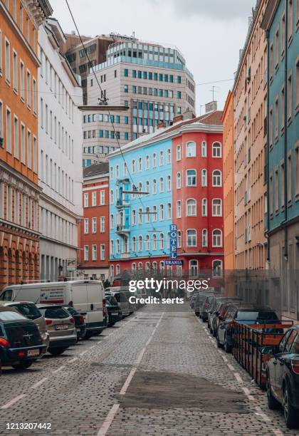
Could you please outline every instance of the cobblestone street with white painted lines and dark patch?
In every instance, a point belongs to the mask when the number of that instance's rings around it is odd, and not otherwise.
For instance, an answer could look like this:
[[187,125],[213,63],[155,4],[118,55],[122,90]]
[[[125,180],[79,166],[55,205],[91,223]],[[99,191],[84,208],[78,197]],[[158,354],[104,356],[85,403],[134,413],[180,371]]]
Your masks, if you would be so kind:
[[[143,308],[24,372],[4,369],[0,434],[296,434],[187,305],[163,310]],[[6,430],[8,422],[51,430]]]

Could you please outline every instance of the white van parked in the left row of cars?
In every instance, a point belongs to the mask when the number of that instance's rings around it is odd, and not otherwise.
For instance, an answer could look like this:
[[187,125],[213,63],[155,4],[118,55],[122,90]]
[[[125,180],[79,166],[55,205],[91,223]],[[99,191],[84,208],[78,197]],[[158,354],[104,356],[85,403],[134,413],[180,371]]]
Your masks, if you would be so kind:
[[73,306],[79,313],[84,313],[85,339],[102,333],[105,328],[105,294],[102,281],[52,281],[6,286],[0,293],[0,300]]

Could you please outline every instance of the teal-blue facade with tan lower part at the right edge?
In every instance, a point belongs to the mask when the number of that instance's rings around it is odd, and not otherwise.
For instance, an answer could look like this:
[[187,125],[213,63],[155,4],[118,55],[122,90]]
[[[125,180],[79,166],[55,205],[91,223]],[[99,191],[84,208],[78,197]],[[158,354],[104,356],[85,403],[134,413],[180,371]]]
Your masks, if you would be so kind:
[[298,1],[268,3],[268,262],[283,279],[283,310],[298,313],[293,271],[299,270],[299,11]]

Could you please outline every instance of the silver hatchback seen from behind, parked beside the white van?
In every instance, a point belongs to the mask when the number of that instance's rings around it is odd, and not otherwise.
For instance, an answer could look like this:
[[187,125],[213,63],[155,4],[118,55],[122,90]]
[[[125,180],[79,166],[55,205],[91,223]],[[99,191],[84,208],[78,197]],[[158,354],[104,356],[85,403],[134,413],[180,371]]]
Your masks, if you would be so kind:
[[38,308],[46,319],[50,335],[48,352],[53,355],[62,354],[77,342],[75,319],[63,306],[57,304],[38,304]]

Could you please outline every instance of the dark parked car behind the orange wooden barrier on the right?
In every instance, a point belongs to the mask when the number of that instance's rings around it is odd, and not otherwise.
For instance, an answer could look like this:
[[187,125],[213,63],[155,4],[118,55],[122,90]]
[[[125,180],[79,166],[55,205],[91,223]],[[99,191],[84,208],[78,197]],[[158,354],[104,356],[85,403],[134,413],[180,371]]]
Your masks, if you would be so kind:
[[[245,305],[245,304],[231,304],[227,307],[224,317],[219,318],[219,326],[217,331],[217,346],[224,346],[227,353],[231,352],[234,346],[234,328],[233,321],[240,321],[241,323],[253,323],[263,321],[263,323],[270,323],[271,321],[278,321],[278,316],[272,308]],[[276,333],[280,333],[277,331]]]

